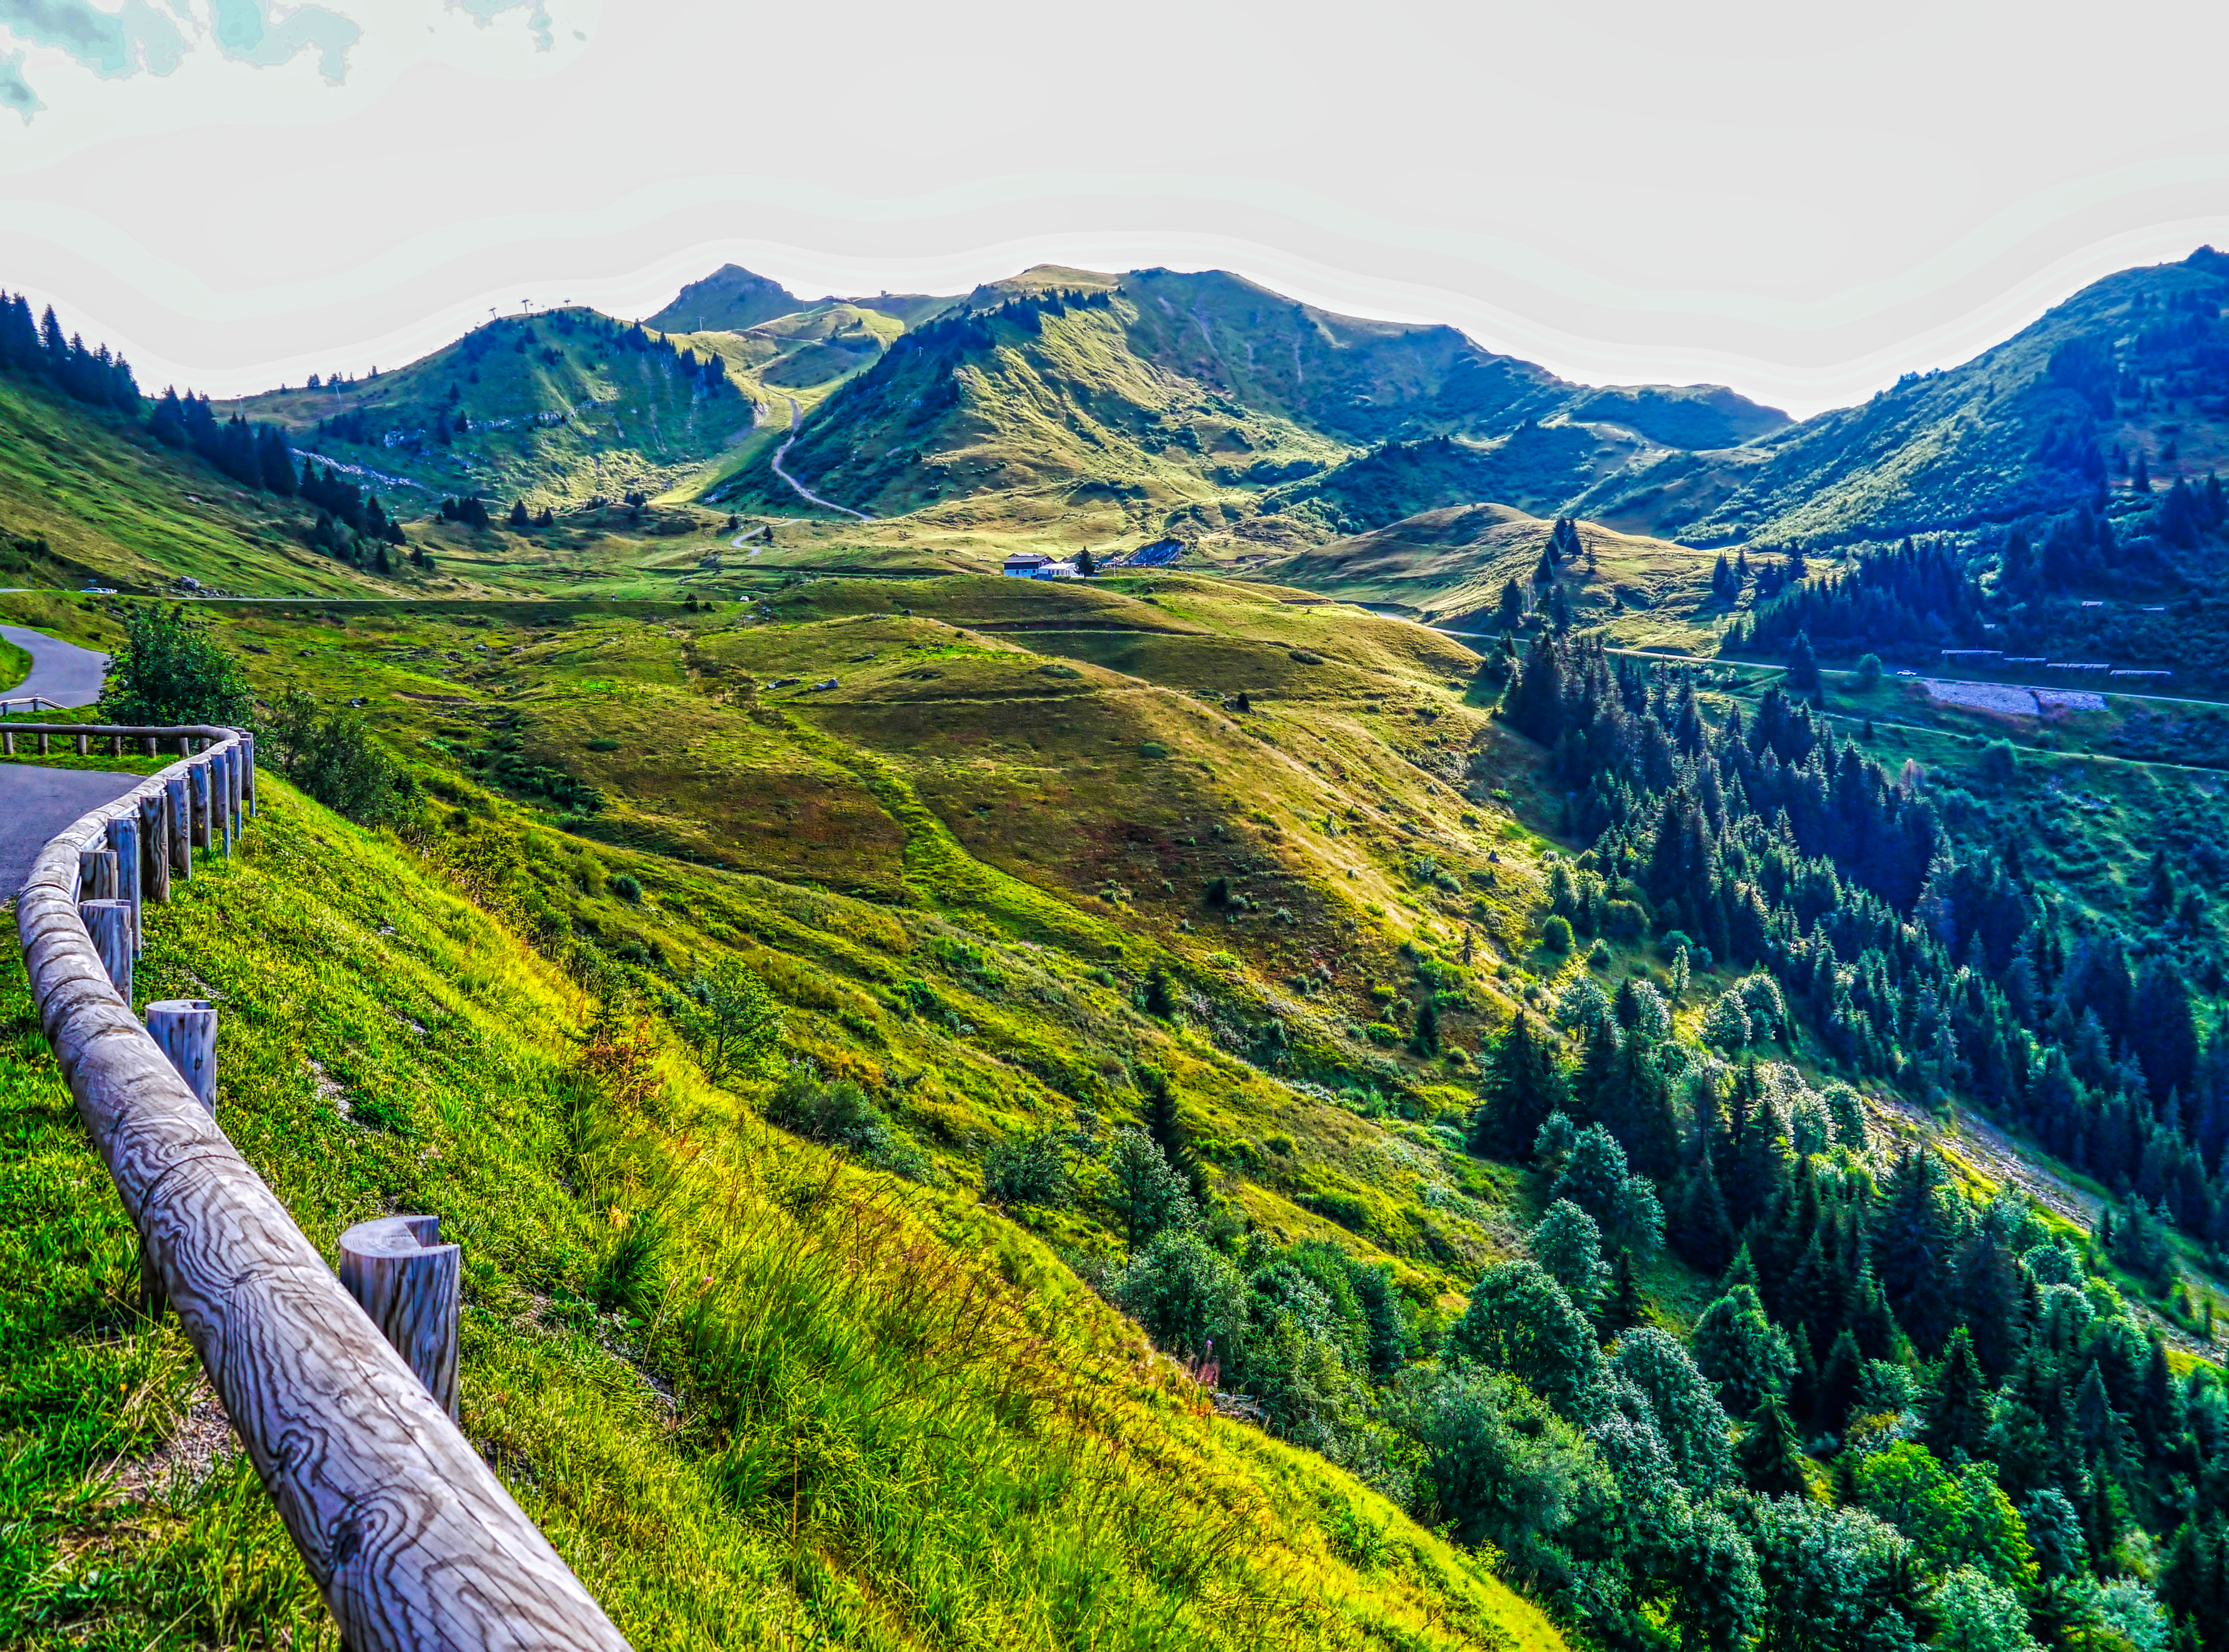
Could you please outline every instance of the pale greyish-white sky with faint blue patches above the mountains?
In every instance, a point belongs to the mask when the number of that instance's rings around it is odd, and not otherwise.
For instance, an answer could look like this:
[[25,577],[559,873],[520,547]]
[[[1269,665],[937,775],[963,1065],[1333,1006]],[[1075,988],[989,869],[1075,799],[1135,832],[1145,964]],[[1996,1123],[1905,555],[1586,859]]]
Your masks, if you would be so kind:
[[722,261],[1221,265],[1812,412],[2229,247],[2225,62],[2218,0],[0,0],[0,285],[223,395]]

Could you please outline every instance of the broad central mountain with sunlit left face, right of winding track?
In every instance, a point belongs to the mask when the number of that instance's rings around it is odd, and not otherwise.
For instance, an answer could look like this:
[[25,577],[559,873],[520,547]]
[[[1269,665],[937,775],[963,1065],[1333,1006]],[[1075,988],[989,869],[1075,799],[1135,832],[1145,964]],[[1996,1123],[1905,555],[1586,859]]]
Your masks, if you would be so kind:
[[[789,468],[885,517],[1099,497],[1139,528],[1219,528],[1313,506],[1262,526],[1291,540],[1476,499],[1556,511],[1667,439],[1727,446],[1783,424],[1727,390],[1587,390],[1453,328],[1340,317],[1224,272],[1048,265],[889,346],[814,415]],[[1415,444],[1442,475],[1380,475]],[[1273,493],[1344,461],[1362,468]],[[727,488],[800,508],[765,461]]]

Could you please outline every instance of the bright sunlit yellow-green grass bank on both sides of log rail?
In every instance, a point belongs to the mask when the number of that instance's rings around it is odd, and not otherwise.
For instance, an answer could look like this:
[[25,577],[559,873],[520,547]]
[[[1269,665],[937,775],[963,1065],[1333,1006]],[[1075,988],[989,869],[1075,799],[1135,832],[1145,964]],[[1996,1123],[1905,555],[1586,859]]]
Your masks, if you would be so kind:
[[[464,1246],[466,1434],[640,1648],[1558,1643],[1019,1228],[584,1046],[522,941],[283,783],[152,910],[143,988],[223,1005],[225,1128],[312,1242]],[[181,1445],[216,1418],[20,965],[0,1005],[0,1639],[330,1645],[252,1476]]]

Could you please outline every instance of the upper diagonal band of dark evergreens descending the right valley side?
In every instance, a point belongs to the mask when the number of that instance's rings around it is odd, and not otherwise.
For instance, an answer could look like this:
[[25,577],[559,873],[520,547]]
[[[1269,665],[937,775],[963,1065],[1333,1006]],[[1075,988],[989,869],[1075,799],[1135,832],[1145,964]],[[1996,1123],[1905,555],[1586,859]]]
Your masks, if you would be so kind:
[[1857,1072],[1973,1095],[2229,1242],[2229,1037],[2200,1039],[2173,954],[2069,930],[2015,840],[1953,843],[1919,785],[1779,691],[1714,727],[1692,678],[1542,638],[1502,711],[1551,747],[1612,896],[1772,974]]

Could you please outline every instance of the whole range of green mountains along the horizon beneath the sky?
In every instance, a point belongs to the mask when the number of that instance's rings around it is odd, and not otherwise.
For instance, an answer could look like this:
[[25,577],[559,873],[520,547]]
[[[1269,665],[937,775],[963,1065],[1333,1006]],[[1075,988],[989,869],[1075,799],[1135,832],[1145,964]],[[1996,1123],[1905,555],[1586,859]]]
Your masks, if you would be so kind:
[[805,301],[727,265],[642,323],[510,317],[399,372],[232,410],[403,497],[649,490],[811,515],[796,479],[867,517],[1081,506],[1284,551],[1507,504],[1823,548],[2064,511],[2124,484],[2133,455],[2162,479],[2218,466],[2225,294],[2211,250],[2126,270],[1959,368],[1792,421],[1723,386],[1571,383],[1447,325],[1217,270],[1039,265],[967,294]]

